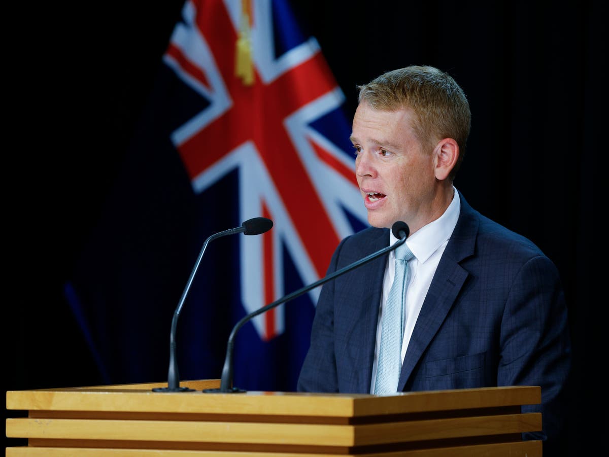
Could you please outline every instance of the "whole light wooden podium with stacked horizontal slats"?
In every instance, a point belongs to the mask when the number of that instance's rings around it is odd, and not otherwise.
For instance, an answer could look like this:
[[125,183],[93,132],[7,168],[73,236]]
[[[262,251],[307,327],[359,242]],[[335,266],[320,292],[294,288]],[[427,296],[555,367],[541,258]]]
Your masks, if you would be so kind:
[[541,456],[541,389],[515,386],[377,397],[295,392],[153,392],[166,383],[7,391],[14,456]]

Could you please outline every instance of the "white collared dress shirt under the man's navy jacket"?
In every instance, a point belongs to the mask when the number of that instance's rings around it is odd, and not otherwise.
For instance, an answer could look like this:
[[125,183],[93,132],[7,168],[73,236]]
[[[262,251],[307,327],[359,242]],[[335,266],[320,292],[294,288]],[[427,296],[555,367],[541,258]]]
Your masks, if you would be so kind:
[[[438,217],[428,225],[421,227],[414,234],[410,235],[406,240],[406,245],[410,248],[415,257],[408,262],[410,269],[410,279],[407,284],[406,302],[404,303],[404,340],[402,343],[402,363],[404,363],[404,355],[408,349],[408,343],[412,336],[412,330],[417,323],[418,315],[423,307],[423,301],[429,290],[429,285],[434,277],[435,270],[440,262],[440,257],[444,253],[444,249],[448,244],[448,239],[451,237],[452,231],[457,225],[461,204],[457,190],[453,187],[453,196],[451,204],[448,205],[444,214]],[[389,245],[393,245],[398,239],[390,235]],[[393,284],[393,276],[395,276],[395,251],[389,253],[387,266],[385,267],[385,276],[383,279],[381,309],[379,310],[378,326],[376,327],[376,347],[375,359],[372,366],[372,382],[370,385],[370,393],[375,391],[376,366],[378,365],[379,349],[381,347],[381,332],[382,332],[382,310],[387,302],[389,290]]]

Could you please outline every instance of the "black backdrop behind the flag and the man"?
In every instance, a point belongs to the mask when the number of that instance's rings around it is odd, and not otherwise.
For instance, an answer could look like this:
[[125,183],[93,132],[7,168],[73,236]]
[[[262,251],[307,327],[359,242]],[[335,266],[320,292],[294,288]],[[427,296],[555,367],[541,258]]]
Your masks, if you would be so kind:
[[[473,117],[455,185],[557,264],[573,344],[565,453],[606,452],[607,298],[593,203],[606,119],[600,2],[290,3],[349,116],[355,86],[390,69],[434,65],[460,83]],[[99,223],[182,4],[68,2],[7,15],[5,390],[102,383],[63,284]]]

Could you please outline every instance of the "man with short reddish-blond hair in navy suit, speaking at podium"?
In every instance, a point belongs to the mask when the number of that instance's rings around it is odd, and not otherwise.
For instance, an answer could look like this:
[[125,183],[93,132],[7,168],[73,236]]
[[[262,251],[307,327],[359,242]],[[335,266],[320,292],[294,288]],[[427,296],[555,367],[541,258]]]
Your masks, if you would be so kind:
[[[541,407],[523,409],[543,413],[543,433],[528,438],[551,444],[565,420],[571,352],[560,277],[537,246],[474,211],[453,186],[469,131],[465,94],[436,68],[390,71],[359,88],[351,141],[371,227],[340,242],[328,273],[395,243],[389,228],[406,222],[414,257],[401,372],[398,360],[386,393],[541,386]],[[299,391],[383,394],[395,252],[323,286]]]

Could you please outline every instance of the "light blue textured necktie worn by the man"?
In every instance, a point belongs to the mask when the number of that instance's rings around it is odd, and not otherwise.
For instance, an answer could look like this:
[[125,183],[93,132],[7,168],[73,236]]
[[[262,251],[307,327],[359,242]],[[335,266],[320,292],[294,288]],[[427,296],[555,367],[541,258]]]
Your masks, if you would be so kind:
[[398,390],[402,371],[404,300],[408,285],[408,261],[414,257],[406,243],[395,249],[395,277],[382,310],[381,347],[376,368],[375,395],[391,395]]

